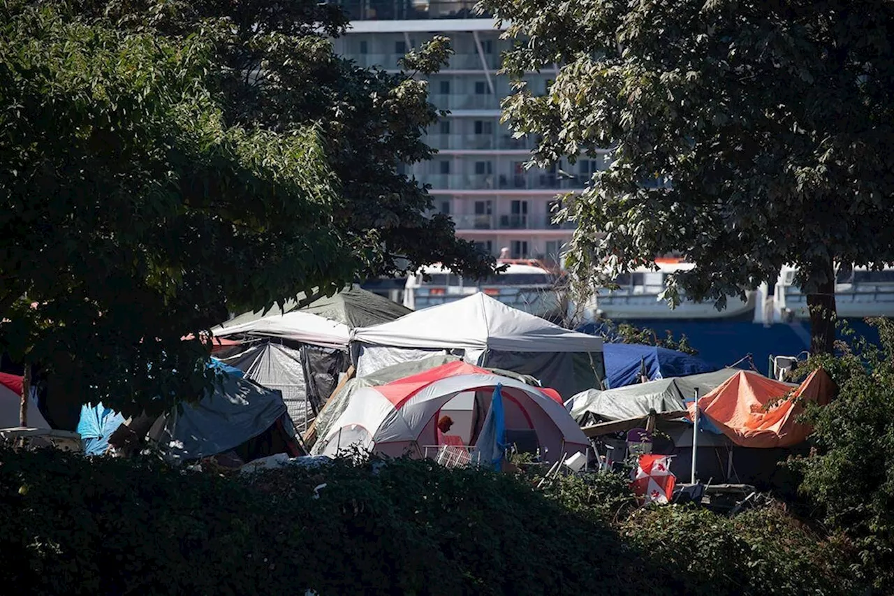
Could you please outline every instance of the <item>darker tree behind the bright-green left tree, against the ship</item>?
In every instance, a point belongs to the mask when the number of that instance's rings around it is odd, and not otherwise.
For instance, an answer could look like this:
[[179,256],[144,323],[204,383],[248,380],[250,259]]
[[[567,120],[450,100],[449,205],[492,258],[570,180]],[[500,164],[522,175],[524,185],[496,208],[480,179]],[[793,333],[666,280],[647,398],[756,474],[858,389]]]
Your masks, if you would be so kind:
[[316,124],[326,158],[342,182],[333,225],[362,261],[358,277],[391,276],[442,262],[469,277],[493,273],[493,259],[458,239],[450,217],[430,214],[426,189],[398,172],[433,155],[426,129],[441,114],[426,81],[452,53],[435,36],[403,59],[406,72],[359,68],[333,54],[331,38],[347,17],[317,0],[78,0],[115,28],[185,39],[215,39],[227,123],[288,131]]

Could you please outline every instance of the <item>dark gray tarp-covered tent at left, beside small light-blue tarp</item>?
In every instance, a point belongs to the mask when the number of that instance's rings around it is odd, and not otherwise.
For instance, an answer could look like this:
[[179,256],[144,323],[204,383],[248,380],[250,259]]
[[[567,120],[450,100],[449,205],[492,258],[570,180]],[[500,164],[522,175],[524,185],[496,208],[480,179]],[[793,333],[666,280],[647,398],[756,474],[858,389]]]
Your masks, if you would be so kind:
[[198,402],[160,416],[149,430],[171,459],[214,456],[269,429],[286,412],[279,391],[225,375]]

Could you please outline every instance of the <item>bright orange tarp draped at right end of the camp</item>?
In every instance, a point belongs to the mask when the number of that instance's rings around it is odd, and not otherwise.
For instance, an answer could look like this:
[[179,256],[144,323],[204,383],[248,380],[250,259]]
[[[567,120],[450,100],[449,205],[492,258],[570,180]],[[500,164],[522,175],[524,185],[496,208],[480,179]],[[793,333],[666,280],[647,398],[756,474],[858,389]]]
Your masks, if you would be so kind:
[[[699,415],[707,416],[736,445],[791,447],[811,431],[796,422],[804,407],[793,398],[825,405],[834,391],[832,379],[822,369],[814,370],[797,387],[743,370],[698,400]],[[780,401],[789,392],[791,396]],[[694,412],[695,405],[689,404],[690,420]]]

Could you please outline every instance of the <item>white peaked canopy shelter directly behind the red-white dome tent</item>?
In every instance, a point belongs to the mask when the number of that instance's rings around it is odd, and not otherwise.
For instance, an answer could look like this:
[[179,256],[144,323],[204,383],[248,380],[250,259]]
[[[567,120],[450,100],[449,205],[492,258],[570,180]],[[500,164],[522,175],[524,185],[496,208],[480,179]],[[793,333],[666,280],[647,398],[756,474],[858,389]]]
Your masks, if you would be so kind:
[[478,366],[513,370],[571,396],[599,386],[603,340],[553,325],[484,293],[357,328],[351,359],[358,375],[432,353],[454,353]]

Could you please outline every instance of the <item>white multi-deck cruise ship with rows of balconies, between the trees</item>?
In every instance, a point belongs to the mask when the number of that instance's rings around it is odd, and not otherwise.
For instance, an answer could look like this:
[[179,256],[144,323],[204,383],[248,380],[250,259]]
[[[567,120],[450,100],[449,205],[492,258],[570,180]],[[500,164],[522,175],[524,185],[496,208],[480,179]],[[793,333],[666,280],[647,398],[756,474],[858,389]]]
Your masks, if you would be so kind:
[[[500,39],[493,18],[473,12],[474,2],[341,0],[348,11],[348,34],[335,50],[361,66],[396,72],[398,60],[434,35],[451,38],[450,64],[429,77],[435,106],[450,110],[428,131],[438,149],[432,161],[408,167],[408,174],[432,186],[435,207],[450,215],[457,234],[494,256],[508,249],[514,259],[557,260],[572,226],[552,224],[558,193],[584,187],[604,158],[580,159],[549,170],[524,167],[533,139],[513,139],[500,123],[500,102],[510,94],[509,79],[497,71]],[[556,71],[531,72],[529,89],[544,93]]]

